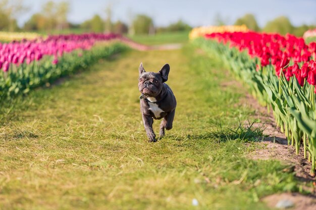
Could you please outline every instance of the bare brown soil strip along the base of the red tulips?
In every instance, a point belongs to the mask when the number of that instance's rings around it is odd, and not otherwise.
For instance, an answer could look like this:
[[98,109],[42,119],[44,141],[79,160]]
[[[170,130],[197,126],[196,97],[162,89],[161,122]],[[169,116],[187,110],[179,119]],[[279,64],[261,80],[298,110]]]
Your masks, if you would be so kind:
[[[242,85],[236,81],[225,82],[221,85],[224,88],[233,86],[240,90],[244,90]],[[268,112],[267,107],[259,105],[257,100],[250,94],[246,93],[246,97],[241,99],[240,104],[236,104],[236,106],[238,105],[244,105],[245,108],[255,110],[253,117],[258,119],[258,122],[254,123],[253,126],[264,128],[263,134],[265,137],[260,139],[260,142],[257,143],[262,147],[258,147],[260,149],[256,149],[253,153],[250,153],[249,158],[279,160],[289,165],[285,171],[293,171],[297,179],[302,183],[313,182],[313,188],[303,186],[304,190],[311,192],[310,195],[302,195],[299,193],[273,194],[262,198],[262,201],[266,202],[271,208],[276,208],[276,205],[280,200],[290,200],[294,203],[294,206],[290,209],[316,209],[315,177],[310,175],[311,163],[308,163],[308,161],[304,159],[303,148],[301,147],[299,155],[296,155],[295,147],[288,145],[285,134],[276,126],[272,110]]]

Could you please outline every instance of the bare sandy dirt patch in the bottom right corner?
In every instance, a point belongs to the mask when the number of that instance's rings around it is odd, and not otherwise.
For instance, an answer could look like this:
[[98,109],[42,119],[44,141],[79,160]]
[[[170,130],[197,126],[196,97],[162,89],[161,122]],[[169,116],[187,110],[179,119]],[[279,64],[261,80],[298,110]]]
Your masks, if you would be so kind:
[[298,193],[282,193],[269,195],[262,199],[266,202],[269,207],[276,208],[277,204],[282,201],[287,200],[294,204],[290,209],[293,210],[314,210],[316,209],[316,197],[306,196]]

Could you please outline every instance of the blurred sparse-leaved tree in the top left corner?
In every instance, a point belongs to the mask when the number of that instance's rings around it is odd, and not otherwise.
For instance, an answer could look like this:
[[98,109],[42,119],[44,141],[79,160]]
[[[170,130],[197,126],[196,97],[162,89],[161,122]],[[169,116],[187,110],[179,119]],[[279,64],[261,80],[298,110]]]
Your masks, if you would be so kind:
[[1,22],[7,25],[4,29],[9,31],[16,30],[18,28],[17,18],[27,10],[28,9],[23,5],[23,0],[0,0],[0,14],[1,17],[4,18],[1,19]]

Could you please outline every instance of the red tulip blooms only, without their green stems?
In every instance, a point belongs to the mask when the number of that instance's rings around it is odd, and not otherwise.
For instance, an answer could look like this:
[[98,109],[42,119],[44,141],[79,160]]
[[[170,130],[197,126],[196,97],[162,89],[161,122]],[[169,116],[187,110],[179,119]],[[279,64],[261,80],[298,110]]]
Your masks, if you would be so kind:
[[304,39],[290,34],[281,36],[256,32],[213,33],[206,34],[205,38],[216,39],[224,44],[230,42],[230,47],[236,47],[239,51],[246,49],[250,57],[260,59],[260,66],[257,68],[272,64],[275,74],[279,77],[282,71],[287,81],[295,76],[300,86],[305,81],[316,85],[316,62],[312,60],[316,53],[315,42],[307,45]]

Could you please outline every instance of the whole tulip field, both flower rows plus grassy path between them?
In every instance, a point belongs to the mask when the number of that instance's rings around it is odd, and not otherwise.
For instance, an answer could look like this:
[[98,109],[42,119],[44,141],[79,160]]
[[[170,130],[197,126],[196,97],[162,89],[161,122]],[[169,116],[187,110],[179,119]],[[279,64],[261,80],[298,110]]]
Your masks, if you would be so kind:
[[[269,195],[314,193],[316,43],[245,26],[183,34],[0,43],[0,209],[266,210]],[[170,64],[178,102],[154,144],[139,111],[140,62],[148,72]],[[244,103],[249,90],[290,146],[255,126],[265,112]]]

